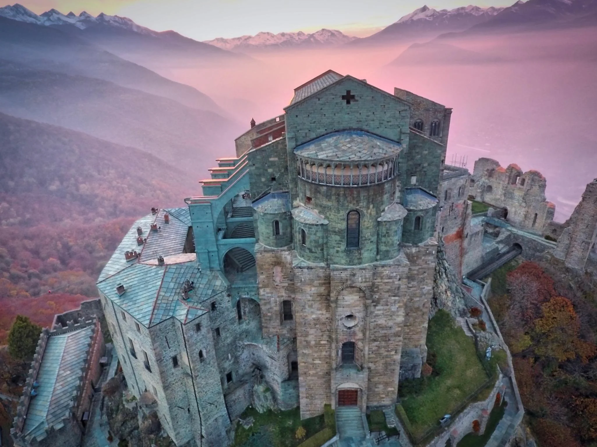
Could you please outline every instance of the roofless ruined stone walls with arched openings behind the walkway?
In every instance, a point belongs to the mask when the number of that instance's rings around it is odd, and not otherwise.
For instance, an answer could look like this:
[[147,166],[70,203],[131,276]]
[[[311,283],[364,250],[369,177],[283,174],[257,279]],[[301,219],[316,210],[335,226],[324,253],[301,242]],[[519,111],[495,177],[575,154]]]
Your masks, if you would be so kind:
[[500,209],[500,217],[513,226],[543,235],[549,232],[555,205],[545,198],[547,181],[541,172],[516,164],[502,168],[491,158],[479,158],[470,180],[476,200]]

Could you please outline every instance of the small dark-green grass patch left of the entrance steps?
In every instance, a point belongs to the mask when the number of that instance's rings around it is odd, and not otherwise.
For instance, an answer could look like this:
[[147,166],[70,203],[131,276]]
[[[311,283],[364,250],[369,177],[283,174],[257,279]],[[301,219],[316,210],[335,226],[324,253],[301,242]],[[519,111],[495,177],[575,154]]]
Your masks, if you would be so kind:
[[[246,419],[250,416],[255,420],[253,426],[236,426],[233,447],[296,447],[325,427],[324,415],[301,421],[298,407],[288,411],[269,410],[264,413],[250,407],[242,412],[241,418]],[[302,439],[296,439],[298,427],[306,430]]]

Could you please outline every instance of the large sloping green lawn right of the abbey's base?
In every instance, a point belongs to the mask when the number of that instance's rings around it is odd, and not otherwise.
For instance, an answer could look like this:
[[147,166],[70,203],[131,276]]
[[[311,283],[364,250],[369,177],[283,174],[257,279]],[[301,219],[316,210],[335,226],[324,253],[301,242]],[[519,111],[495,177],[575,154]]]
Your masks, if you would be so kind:
[[472,338],[443,310],[429,321],[427,349],[427,359],[433,363],[432,375],[403,380],[399,389],[416,439],[438,426],[444,414],[452,414],[488,380]]

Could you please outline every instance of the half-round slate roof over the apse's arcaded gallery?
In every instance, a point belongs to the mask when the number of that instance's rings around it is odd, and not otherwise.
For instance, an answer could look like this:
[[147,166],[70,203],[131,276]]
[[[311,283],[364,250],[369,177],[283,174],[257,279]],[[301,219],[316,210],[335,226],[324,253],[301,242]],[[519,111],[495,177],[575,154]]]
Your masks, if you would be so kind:
[[370,161],[396,156],[402,145],[365,131],[342,130],[322,135],[294,149],[304,158],[334,161]]

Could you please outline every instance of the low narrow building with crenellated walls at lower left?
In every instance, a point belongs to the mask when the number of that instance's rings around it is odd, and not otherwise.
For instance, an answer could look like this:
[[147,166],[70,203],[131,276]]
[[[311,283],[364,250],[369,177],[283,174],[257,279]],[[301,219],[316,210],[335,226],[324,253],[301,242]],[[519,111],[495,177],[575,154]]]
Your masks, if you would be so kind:
[[81,445],[104,351],[96,318],[42,331],[11,430],[14,445]]

